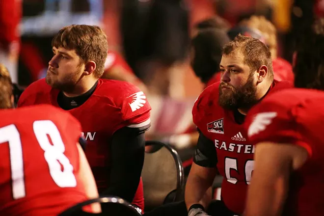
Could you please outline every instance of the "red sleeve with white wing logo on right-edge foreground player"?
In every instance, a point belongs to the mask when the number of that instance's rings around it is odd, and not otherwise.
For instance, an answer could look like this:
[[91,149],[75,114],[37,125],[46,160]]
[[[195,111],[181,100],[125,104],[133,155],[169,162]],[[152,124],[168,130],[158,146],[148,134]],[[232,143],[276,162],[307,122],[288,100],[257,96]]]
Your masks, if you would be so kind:
[[303,139],[302,132],[299,130],[299,122],[293,112],[294,107],[291,104],[267,100],[252,108],[245,120],[250,142],[252,144],[264,141],[296,144],[304,147],[311,155],[311,147]]

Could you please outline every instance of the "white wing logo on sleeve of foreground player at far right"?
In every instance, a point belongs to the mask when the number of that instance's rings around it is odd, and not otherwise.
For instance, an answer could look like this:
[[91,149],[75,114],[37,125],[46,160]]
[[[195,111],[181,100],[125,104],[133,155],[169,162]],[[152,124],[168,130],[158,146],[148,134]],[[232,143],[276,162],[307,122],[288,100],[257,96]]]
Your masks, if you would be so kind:
[[276,117],[276,112],[261,112],[258,113],[248,128],[247,135],[252,136],[258,134],[261,131],[266,129],[266,126],[270,125],[272,122],[272,118]]

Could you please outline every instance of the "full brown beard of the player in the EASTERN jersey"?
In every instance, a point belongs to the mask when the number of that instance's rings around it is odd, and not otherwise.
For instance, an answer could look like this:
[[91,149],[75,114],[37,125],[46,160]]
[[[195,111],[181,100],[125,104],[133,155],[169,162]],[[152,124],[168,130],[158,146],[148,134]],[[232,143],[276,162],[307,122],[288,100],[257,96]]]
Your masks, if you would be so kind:
[[[224,93],[222,87],[231,88],[231,92]],[[235,110],[238,108],[251,108],[258,103],[256,98],[256,86],[253,83],[253,73],[251,73],[243,85],[243,87],[236,89],[232,85],[225,82],[219,84],[219,98],[218,104],[224,109]]]

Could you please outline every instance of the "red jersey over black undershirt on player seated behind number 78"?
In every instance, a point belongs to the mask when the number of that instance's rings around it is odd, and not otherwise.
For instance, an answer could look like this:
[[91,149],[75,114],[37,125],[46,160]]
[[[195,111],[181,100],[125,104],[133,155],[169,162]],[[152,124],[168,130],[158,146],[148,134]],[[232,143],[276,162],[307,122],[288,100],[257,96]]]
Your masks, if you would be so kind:
[[[18,106],[52,104],[58,107],[59,90],[45,79],[30,84],[19,99]],[[68,110],[82,125],[88,142],[85,155],[96,179],[99,193],[108,187],[109,145],[115,131],[123,127],[140,128],[150,124],[151,107],[146,96],[135,85],[125,81],[99,79],[90,98],[80,107]],[[133,204],[143,210],[143,186],[140,181]]]

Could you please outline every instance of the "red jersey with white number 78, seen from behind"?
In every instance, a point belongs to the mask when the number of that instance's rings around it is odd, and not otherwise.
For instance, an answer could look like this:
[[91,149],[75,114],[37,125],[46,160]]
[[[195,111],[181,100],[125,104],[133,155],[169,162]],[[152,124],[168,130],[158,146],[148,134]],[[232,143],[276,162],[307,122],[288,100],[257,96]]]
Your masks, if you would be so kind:
[[49,105],[0,110],[0,215],[56,216],[87,199],[81,125]]

